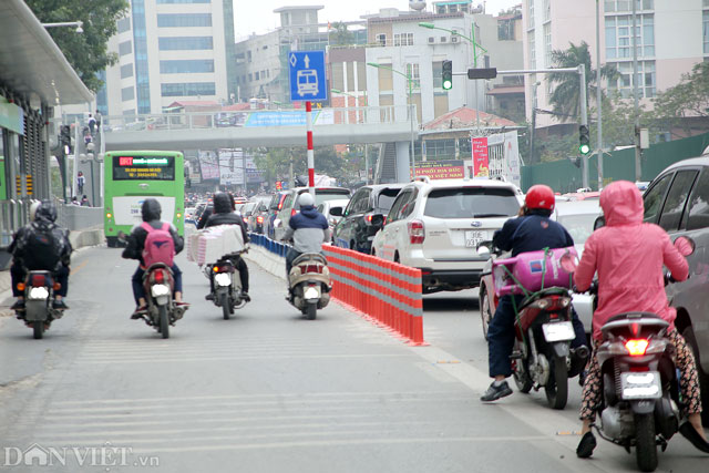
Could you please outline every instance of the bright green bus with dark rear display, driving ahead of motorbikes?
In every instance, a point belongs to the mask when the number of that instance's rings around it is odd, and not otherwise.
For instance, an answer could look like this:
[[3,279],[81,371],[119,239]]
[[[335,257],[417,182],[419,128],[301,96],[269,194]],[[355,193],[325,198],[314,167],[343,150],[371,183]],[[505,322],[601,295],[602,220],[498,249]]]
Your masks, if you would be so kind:
[[162,219],[185,234],[184,157],[175,151],[112,151],[104,157],[104,233],[110,247],[119,245],[119,232],[130,234],[140,225],[147,197],[160,202]]

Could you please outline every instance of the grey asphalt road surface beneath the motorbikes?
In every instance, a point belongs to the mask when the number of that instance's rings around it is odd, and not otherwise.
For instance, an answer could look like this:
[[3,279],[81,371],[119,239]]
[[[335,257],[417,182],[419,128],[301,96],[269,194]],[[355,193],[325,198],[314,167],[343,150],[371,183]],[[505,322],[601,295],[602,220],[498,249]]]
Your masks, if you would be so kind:
[[[168,340],[129,320],[135,263],[105,247],[74,257],[71,310],[45,339],[0,319],[0,471],[635,471],[604,442],[576,459],[577,387],[563,412],[542,392],[479,401],[474,291],[427,297],[431,345],[417,348],[337,304],[302,319],[254,264],[253,302],[224,320],[196,266],[178,264],[193,306]],[[706,461],[678,439],[658,471]]]

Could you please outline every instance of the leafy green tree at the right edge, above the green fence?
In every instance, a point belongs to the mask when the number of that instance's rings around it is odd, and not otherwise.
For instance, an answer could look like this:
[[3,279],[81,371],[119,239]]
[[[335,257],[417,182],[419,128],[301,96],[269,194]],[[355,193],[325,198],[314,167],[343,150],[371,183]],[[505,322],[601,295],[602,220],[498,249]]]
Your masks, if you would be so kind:
[[657,94],[655,117],[667,130],[684,125],[690,131],[689,117],[709,116],[709,62],[695,64],[691,72],[682,74],[679,84]]

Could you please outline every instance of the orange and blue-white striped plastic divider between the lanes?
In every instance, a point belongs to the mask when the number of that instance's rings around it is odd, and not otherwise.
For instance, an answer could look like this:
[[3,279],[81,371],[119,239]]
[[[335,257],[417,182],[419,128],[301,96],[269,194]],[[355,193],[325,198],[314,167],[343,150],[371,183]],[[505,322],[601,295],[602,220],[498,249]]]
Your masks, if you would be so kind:
[[[421,270],[350,249],[323,245],[332,278],[330,297],[412,346],[423,339]],[[247,258],[285,278],[288,246],[251,234]]]

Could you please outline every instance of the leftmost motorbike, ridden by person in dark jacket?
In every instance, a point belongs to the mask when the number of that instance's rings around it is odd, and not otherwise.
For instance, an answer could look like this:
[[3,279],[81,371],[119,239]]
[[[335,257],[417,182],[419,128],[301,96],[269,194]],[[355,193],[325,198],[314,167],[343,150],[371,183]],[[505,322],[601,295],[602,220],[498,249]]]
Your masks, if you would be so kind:
[[51,271],[30,270],[24,282],[18,284],[18,289],[24,292],[24,310],[16,313],[32,328],[34,339],[39,340],[52,321],[61,319],[64,313],[63,309],[52,307],[54,291],[60,289],[60,285],[53,282]]

